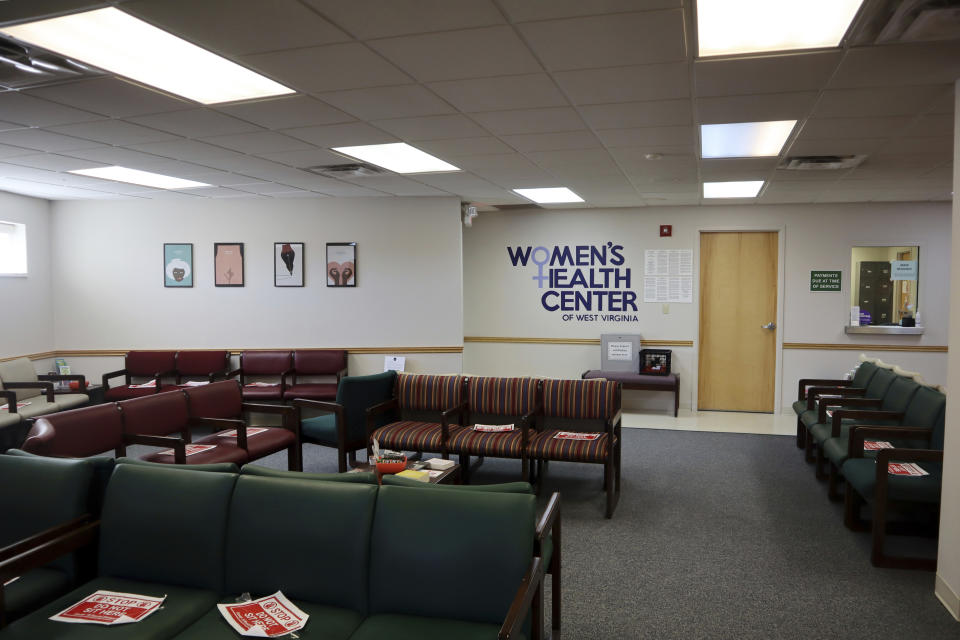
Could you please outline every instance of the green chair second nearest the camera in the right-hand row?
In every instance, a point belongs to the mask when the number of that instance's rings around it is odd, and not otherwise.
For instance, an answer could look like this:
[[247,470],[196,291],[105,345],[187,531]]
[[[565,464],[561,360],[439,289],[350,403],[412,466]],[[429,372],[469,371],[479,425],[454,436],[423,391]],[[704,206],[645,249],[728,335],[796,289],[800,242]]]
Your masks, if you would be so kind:
[[[892,389],[893,386],[891,385],[891,390]],[[942,424],[946,404],[947,397],[943,395],[943,393],[932,387],[920,385],[902,413],[898,413],[895,409],[890,409],[889,411],[841,410],[834,413],[834,422],[840,422],[839,435],[830,437],[821,447],[830,466],[830,498],[840,498],[840,495],[837,493],[837,482],[842,478],[840,468],[849,456],[850,431],[856,428],[854,423],[857,425],[933,429],[938,422]],[[905,448],[923,445],[922,442],[918,443],[916,440],[902,439],[895,440],[892,444]],[[875,454],[872,451],[865,451],[864,456],[872,458],[875,457]]]

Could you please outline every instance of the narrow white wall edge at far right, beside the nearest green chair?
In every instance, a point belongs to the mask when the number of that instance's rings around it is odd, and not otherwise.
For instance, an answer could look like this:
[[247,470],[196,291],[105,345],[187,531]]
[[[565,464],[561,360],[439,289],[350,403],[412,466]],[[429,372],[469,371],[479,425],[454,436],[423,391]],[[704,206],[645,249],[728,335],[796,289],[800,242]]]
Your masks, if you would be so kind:
[[[960,185],[960,80],[956,83],[956,109],[953,127],[953,184]],[[953,255],[960,256],[960,200],[953,198]],[[960,260],[951,265],[955,281],[960,281]],[[960,292],[950,295],[950,337],[960,345]],[[943,489],[940,496],[940,554],[937,560],[936,593],[947,609],[960,620],[960,353],[950,353],[950,389],[947,395],[947,431],[944,444]]]

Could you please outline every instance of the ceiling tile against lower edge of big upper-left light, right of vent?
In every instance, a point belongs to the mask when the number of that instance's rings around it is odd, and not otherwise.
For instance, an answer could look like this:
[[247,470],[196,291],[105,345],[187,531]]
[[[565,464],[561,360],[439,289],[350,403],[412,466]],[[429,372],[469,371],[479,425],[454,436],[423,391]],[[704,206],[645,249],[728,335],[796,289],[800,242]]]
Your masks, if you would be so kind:
[[27,95],[68,104],[111,118],[176,111],[196,106],[192,102],[147,89],[119,78],[78,80],[52,87],[30,89]]

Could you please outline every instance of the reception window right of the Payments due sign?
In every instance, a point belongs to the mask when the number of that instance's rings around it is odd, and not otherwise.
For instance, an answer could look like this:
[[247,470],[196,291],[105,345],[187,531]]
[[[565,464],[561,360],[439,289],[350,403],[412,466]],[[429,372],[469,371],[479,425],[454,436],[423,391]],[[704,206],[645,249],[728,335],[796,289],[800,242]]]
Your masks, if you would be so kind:
[[854,247],[850,274],[850,305],[859,307],[861,325],[916,317],[920,247]]

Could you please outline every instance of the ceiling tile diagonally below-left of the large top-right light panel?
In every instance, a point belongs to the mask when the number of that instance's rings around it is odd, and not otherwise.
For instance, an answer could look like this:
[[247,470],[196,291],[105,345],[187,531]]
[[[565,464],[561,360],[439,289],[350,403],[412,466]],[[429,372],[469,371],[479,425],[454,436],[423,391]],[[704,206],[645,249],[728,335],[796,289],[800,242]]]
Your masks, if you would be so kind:
[[573,104],[669,100],[690,95],[685,62],[614,67],[554,74]]

